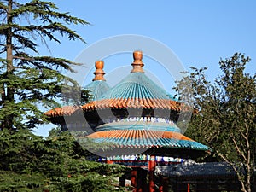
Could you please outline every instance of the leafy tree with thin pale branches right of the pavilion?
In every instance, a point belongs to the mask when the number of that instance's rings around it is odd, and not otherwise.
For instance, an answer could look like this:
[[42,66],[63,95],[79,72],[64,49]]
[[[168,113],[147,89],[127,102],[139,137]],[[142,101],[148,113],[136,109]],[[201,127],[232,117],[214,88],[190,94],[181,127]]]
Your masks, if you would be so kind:
[[189,98],[199,111],[186,135],[210,146],[213,157],[230,163],[241,190],[250,192],[255,167],[256,75],[245,73],[248,61],[240,53],[221,59],[223,73],[213,84],[206,78],[206,68],[191,67],[193,72],[178,82],[176,90],[185,95],[183,102]]

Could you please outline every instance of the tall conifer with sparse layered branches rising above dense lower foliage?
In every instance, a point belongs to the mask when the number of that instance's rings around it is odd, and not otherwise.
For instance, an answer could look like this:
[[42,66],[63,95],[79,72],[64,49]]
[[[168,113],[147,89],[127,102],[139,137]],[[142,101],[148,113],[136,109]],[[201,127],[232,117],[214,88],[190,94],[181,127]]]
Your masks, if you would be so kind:
[[40,107],[54,108],[66,83],[78,87],[62,72],[73,71],[72,61],[39,55],[38,42],[84,39],[67,25],[88,22],[58,12],[55,3],[32,0],[0,2],[0,127],[33,128],[45,122]]

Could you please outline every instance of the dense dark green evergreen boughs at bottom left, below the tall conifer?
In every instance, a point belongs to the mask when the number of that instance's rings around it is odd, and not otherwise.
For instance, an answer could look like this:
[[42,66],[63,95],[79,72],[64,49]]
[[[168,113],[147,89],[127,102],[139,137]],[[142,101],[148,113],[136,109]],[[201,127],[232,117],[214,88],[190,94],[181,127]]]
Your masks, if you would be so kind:
[[0,131],[0,140],[0,191],[121,191],[114,177],[125,167],[85,160],[89,153],[68,132],[43,139]]

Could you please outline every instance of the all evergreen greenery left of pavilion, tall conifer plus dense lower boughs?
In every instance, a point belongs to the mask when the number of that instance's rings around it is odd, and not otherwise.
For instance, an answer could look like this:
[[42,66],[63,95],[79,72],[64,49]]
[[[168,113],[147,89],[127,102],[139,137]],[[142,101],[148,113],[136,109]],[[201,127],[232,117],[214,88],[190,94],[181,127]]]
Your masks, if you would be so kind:
[[[55,99],[88,101],[87,92],[63,75],[77,63],[39,55],[39,49],[60,38],[84,42],[67,26],[89,23],[58,12],[55,3],[20,2],[0,2],[0,191],[121,190],[113,183],[124,167],[85,160],[89,153],[68,132],[51,131],[44,139],[28,131],[45,123],[41,110],[59,106]],[[64,86],[78,98],[63,98]]]

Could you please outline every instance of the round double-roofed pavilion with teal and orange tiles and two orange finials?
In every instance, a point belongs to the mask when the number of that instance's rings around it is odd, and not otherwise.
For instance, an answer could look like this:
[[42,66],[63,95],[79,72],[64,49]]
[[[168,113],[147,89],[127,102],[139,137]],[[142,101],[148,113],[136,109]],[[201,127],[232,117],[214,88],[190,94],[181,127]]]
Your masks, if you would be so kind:
[[[210,153],[211,148],[183,135],[177,126],[179,114],[191,113],[191,108],[148,78],[142,51],[134,51],[133,59],[131,73],[112,88],[104,78],[103,61],[96,61],[95,78],[85,86],[91,101],[54,108],[45,115],[62,130],[83,131],[75,135],[95,154],[90,160],[130,166],[119,185],[129,180],[133,191],[168,191],[164,170]],[[83,118],[76,118],[81,113]]]

